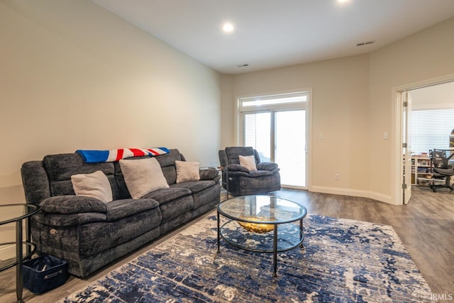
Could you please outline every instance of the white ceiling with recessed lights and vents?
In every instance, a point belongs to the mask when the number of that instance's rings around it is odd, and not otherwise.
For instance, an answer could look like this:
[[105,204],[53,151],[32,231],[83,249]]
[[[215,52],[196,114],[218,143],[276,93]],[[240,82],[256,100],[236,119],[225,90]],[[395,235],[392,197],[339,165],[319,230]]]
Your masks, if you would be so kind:
[[224,74],[369,53],[454,16],[454,0],[92,1]]

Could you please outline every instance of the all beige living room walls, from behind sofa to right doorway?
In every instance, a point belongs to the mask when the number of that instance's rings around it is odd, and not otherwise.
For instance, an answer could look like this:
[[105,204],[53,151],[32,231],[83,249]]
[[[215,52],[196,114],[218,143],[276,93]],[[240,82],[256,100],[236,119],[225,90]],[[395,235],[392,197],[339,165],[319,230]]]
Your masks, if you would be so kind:
[[392,89],[454,74],[454,18],[370,55],[235,76],[87,0],[0,1],[0,38],[1,204],[23,202],[22,162],[48,153],[162,145],[217,165],[236,97],[305,88],[311,190],[394,203]]

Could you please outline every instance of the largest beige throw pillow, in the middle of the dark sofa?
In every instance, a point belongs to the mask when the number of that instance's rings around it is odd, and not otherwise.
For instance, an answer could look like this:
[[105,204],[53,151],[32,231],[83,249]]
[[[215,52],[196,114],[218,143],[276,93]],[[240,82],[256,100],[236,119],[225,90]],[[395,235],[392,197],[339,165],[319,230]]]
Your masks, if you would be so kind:
[[121,172],[133,199],[139,199],[149,192],[168,188],[161,166],[155,158],[120,160]]

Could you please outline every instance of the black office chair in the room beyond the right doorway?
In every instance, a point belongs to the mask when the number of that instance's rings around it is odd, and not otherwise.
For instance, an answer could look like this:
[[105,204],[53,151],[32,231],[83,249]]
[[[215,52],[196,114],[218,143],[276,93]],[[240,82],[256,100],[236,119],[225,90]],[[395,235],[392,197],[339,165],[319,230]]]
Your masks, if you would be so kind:
[[[431,189],[433,192],[437,191],[437,188],[447,187],[451,192],[454,191],[454,186],[451,184],[451,177],[454,176],[454,165],[449,164],[449,160],[454,156],[454,150],[450,154],[450,150],[431,150],[431,162],[433,165],[433,178]],[[450,155],[449,155],[450,154]],[[445,184],[435,184],[434,180],[444,179]]]

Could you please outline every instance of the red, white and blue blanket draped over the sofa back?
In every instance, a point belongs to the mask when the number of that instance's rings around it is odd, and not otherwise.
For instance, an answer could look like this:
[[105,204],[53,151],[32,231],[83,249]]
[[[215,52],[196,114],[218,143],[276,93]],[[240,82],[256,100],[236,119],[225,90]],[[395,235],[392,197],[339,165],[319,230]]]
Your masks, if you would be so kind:
[[116,150],[76,150],[82,155],[84,162],[114,162],[124,158],[140,157],[143,155],[164,155],[169,153],[167,148],[118,148]]

